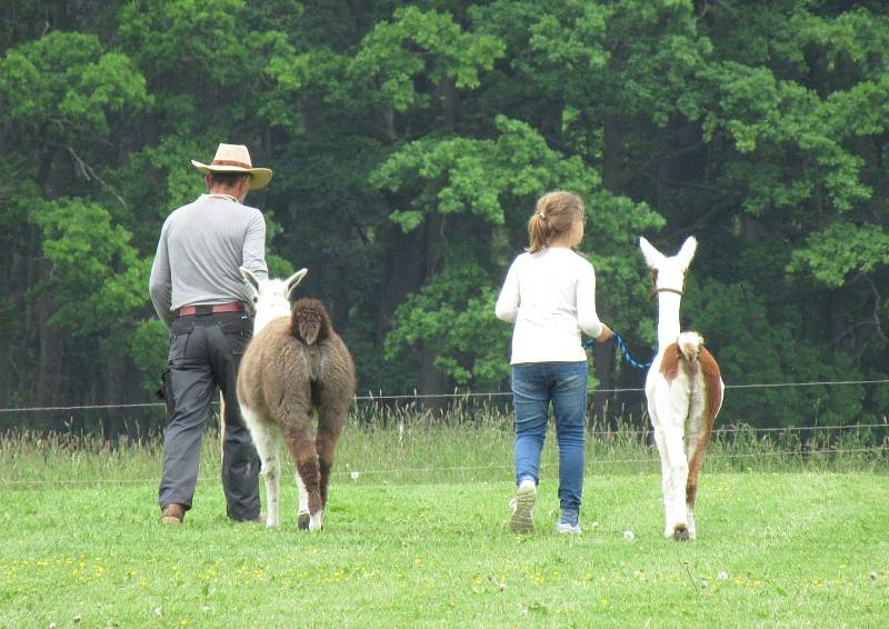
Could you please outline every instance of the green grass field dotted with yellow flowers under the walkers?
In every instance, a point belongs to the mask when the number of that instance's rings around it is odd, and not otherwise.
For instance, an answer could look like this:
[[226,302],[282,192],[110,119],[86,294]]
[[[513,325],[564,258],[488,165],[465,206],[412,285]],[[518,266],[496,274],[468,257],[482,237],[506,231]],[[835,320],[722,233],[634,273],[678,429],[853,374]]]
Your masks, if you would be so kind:
[[280,530],[230,523],[212,439],[194,509],[163,527],[157,443],[8,437],[0,627],[889,623],[885,451],[717,443],[699,539],[676,543],[660,535],[653,453],[618,438],[591,439],[585,532],[558,536],[552,441],[537,531],[518,538],[511,433],[495,426],[347,432],[313,535],[296,530],[291,482]]

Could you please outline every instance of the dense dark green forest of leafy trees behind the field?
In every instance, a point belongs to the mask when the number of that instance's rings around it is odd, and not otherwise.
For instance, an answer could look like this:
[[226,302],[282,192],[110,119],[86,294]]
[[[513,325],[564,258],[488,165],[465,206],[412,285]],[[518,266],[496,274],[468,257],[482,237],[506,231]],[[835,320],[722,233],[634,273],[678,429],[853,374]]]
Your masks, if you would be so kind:
[[[880,1],[4,0],[0,407],[152,400],[151,259],[219,142],[276,171],[248,199],[271,269],[309,268],[359,392],[507,390],[493,302],[552,189],[585,198],[600,316],[638,358],[638,237],[695,234],[683,327],[727,383],[886,379],[888,68]],[[642,381],[610,342],[591,360],[593,386]],[[723,417],[887,402],[738,389]]]

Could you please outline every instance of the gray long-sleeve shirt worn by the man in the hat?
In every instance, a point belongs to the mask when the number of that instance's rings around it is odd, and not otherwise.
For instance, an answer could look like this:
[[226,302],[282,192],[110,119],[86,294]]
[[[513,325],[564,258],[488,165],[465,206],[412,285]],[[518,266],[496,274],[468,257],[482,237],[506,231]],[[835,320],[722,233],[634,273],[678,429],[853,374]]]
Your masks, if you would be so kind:
[[169,328],[183,306],[250,301],[238,267],[268,278],[266,219],[256,208],[202,194],[163,222],[148,290]]

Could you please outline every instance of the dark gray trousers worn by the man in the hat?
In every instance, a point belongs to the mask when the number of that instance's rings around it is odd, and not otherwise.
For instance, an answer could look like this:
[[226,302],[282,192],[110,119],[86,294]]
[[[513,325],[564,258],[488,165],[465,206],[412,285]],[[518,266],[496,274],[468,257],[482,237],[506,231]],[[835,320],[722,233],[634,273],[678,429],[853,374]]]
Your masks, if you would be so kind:
[[201,437],[217,387],[226,400],[222,489],[229,518],[259,516],[260,462],[238,406],[237,377],[253,319],[240,312],[180,317],[170,327],[164,380],[170,423],[163,438],[159,503],[191,508]]

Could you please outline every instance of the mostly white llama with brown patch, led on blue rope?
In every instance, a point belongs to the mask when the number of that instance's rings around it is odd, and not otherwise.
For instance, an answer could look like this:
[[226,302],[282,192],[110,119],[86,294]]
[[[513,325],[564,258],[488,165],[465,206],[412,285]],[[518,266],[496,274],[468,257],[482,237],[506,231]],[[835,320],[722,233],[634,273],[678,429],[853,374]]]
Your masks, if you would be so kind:
[[680,332],[679,306],[698,247],[695,237],[667,258],[645,238],[639,247],[652,269],[658,294],[658,353],[646,378],[648,413],[660,453],[665,537],[695,539],[698,475],[722,406],[719,366],[698,332]]

